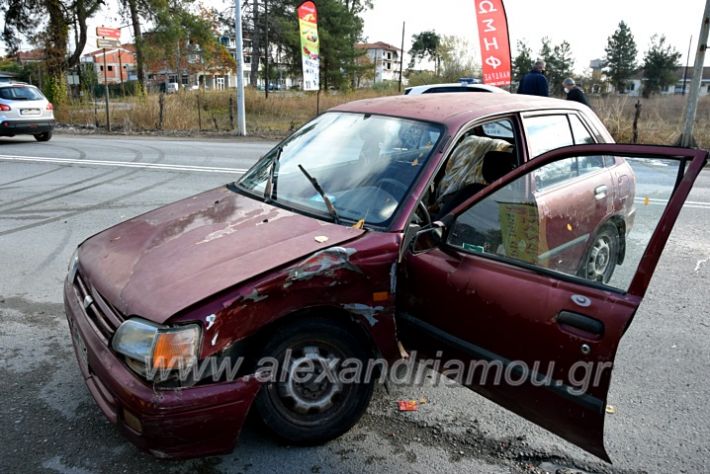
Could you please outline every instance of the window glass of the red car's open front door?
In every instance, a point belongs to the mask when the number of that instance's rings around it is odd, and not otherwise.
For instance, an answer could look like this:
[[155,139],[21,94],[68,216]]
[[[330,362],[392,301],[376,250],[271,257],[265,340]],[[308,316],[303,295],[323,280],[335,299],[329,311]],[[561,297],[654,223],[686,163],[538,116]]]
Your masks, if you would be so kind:
[[680,161],[617,157],[620,185],[601,198],[597,183],[585,179],[564,193],[532,192],[532,183],[574,175],[580,163],[598,166],[603,159],[564,158],[530,171],[458,215],[447,244],[627,291],[673,194]]

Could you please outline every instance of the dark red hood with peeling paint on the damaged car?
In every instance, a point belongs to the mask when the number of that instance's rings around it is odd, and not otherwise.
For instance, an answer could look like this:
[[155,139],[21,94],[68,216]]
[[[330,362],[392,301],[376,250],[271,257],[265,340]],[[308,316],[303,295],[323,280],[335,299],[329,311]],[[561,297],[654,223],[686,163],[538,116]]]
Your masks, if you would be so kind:
[[124,315],[164,323],[216,292],[363,232],[221,187],[89,238],[79,265]]

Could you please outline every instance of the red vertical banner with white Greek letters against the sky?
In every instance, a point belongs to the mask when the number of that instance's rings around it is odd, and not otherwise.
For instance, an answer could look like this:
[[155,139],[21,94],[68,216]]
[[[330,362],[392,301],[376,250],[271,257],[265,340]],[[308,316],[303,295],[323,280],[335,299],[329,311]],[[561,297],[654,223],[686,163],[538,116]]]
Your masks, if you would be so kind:
[[510,84],[510,41],[508,19],[503,0],[473,0],[481,44],[483,83],[493,86]]

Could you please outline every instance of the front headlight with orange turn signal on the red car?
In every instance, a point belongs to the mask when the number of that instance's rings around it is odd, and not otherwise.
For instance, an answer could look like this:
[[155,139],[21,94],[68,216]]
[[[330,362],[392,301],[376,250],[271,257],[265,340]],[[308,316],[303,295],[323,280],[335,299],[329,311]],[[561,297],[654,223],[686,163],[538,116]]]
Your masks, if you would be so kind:
[[154,370],[189,370],[197,362],[199,345],[196,324],[167,328],[140,318],[121,324],[111,341],[113,350]]

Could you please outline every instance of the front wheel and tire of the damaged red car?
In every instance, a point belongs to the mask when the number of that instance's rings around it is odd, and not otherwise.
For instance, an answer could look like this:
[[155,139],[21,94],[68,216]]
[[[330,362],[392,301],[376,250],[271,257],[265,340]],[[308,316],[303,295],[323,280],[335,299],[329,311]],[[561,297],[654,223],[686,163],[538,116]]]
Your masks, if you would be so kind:
[[[333,383],[319,368],[350,358],[359,359],[366,367],[370,351],[364,339],[354,336],[353,329],[322,318],[299,320],[272,335],[261,355],[278,361],[278,370],[262,386],[254,408],[276,438],[293,445],[322,444],[357,423],[372,398],[372,381],[347,383],[339,379]],[[310,378],[304,376],[307,360],[316,368]],[[286,364],[288,369],[282,371]],[[307,380],[300,383],[294,375]]]

